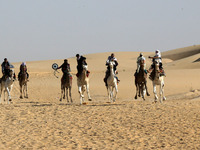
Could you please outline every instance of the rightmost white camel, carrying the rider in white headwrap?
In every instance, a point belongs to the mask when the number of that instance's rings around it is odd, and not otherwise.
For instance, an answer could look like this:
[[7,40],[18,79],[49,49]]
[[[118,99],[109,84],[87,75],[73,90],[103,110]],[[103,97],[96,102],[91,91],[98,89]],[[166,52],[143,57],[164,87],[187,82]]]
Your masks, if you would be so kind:
[[159,85],[160,87],[160,102],[162,103],[163,100],[166,100],[166,97],[164,96],[164,76],[160,76],[160,69],[159,69],[159,62],[155,61],[155,77],[152,81],[153,83],[153,93],[155,96],[155,102],[158,100],[157,92],[156,92],[156,85]]

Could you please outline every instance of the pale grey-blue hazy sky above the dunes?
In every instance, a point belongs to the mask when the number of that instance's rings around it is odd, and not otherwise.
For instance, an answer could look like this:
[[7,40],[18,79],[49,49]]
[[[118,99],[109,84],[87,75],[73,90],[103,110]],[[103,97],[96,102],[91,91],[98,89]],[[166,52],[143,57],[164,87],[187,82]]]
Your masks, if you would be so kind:
[[200,0],[0,0],[0,62],[198,45]]

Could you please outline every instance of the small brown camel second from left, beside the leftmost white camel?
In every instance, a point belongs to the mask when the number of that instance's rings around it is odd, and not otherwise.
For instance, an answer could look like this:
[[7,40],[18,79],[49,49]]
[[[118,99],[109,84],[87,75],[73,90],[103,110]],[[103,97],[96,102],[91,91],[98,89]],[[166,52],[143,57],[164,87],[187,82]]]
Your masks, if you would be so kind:
[[[28,87],[27,87],[27,73],[25,71],[25,66],[21,70],[21,74],[19,76],[19,86],[20,86],[20,98],[23,99],[23,94],[24,98],[28,98]],[[22,94],[23,93],[23,94]]]

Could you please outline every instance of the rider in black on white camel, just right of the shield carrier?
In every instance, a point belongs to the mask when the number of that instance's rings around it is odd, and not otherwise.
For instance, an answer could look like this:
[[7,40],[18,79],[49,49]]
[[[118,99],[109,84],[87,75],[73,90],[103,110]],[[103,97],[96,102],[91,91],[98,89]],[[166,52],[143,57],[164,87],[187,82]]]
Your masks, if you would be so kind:
[[[79,77],[79,75],[83,71],[83,66],[82,65],[87,65],[86,63],[86,57],[80,56],[79,54],[76,54],[76,60],[77,60],[77,74],[76,76]],[[90,71],[87,70],[87,77],[89,76]]]

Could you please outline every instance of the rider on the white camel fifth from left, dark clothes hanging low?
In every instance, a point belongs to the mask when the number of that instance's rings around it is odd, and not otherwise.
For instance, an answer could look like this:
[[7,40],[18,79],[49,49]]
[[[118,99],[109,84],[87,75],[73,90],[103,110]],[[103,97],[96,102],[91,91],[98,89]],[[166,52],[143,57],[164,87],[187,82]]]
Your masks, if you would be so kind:
[[106,75],[105,75],[105,78],[104,78],[104,82],[105,82],[106,86],[107,86],[107,79],[110,76],[110,67],[109,67],[110,61],[114,61],[115,62],[114,66],[113,66],[115,78],[117,79],[118,83],[120,81],[118,79],[118,77],[116,76],[116,74],[117,74],[117,66],[118,66],[117,58],[115,58],[114,53],[112,53],[110,56],[108,56],[108,59],[106,61],[107,70],[106,70]]

